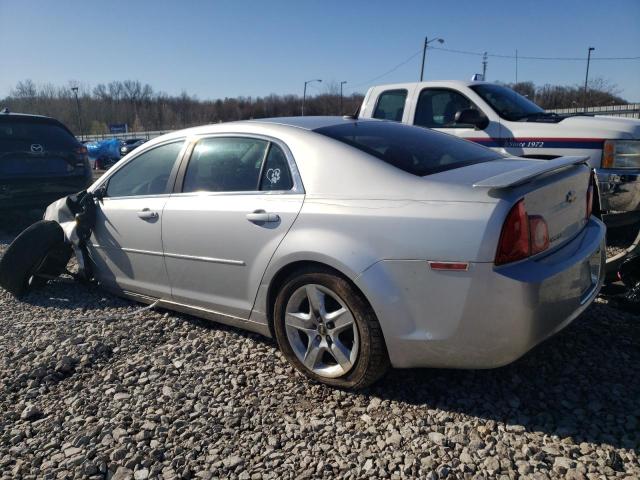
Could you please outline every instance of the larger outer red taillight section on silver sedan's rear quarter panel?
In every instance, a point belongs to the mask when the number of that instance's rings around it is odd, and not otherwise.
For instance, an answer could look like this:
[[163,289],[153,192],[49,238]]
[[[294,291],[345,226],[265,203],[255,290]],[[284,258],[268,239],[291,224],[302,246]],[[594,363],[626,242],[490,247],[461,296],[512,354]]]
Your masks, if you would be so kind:
[[531,255],[531,236],[529,232],[529,218],[524,208],[524,200],[516,203],[502,226],[496,265],[522,260]]

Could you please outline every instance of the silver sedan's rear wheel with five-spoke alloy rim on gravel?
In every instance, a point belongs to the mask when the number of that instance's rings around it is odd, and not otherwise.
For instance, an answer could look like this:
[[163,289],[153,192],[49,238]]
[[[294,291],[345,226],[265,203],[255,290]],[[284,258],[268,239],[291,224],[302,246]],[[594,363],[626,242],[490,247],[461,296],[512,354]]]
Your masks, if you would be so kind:
[[355,390],[389,368],[374,312],[331,271],[303,270],[285,281],[275,301],[274,330],[287,360],[317,382]]

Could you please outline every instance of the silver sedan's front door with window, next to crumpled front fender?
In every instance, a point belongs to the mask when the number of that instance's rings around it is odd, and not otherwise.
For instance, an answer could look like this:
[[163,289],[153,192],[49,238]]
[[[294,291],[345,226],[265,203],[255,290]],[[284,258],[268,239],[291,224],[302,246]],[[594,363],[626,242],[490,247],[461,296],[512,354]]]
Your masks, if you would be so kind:
[[107,288],[169,298],[162,253],[162,212],[184,140],[149,150],[118,168],[101,186],[90,255]]

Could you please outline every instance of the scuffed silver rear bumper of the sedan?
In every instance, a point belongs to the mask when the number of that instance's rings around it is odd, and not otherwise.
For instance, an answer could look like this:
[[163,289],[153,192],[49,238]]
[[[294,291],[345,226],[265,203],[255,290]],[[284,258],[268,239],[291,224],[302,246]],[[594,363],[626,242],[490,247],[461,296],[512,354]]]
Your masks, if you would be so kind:
[[[393,366],[499,367],[593,301],[604,278],[605,231],[592,218],[543,258],[503,267],[474,263],[466,272],[433,271],[425,260],[381,261],[356,283],[378,316]],[[595,278],[590,260],[599,265]]]

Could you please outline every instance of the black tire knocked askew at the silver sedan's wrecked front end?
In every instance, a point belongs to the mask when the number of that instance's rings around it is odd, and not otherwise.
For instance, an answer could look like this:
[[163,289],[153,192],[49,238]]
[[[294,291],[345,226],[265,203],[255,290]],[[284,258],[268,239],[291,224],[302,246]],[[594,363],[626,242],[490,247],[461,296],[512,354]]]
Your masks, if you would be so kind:
[[0,286],[16,297],[60,275],[71,258],[57,222],[41,220],[18,235],[0,259]]

